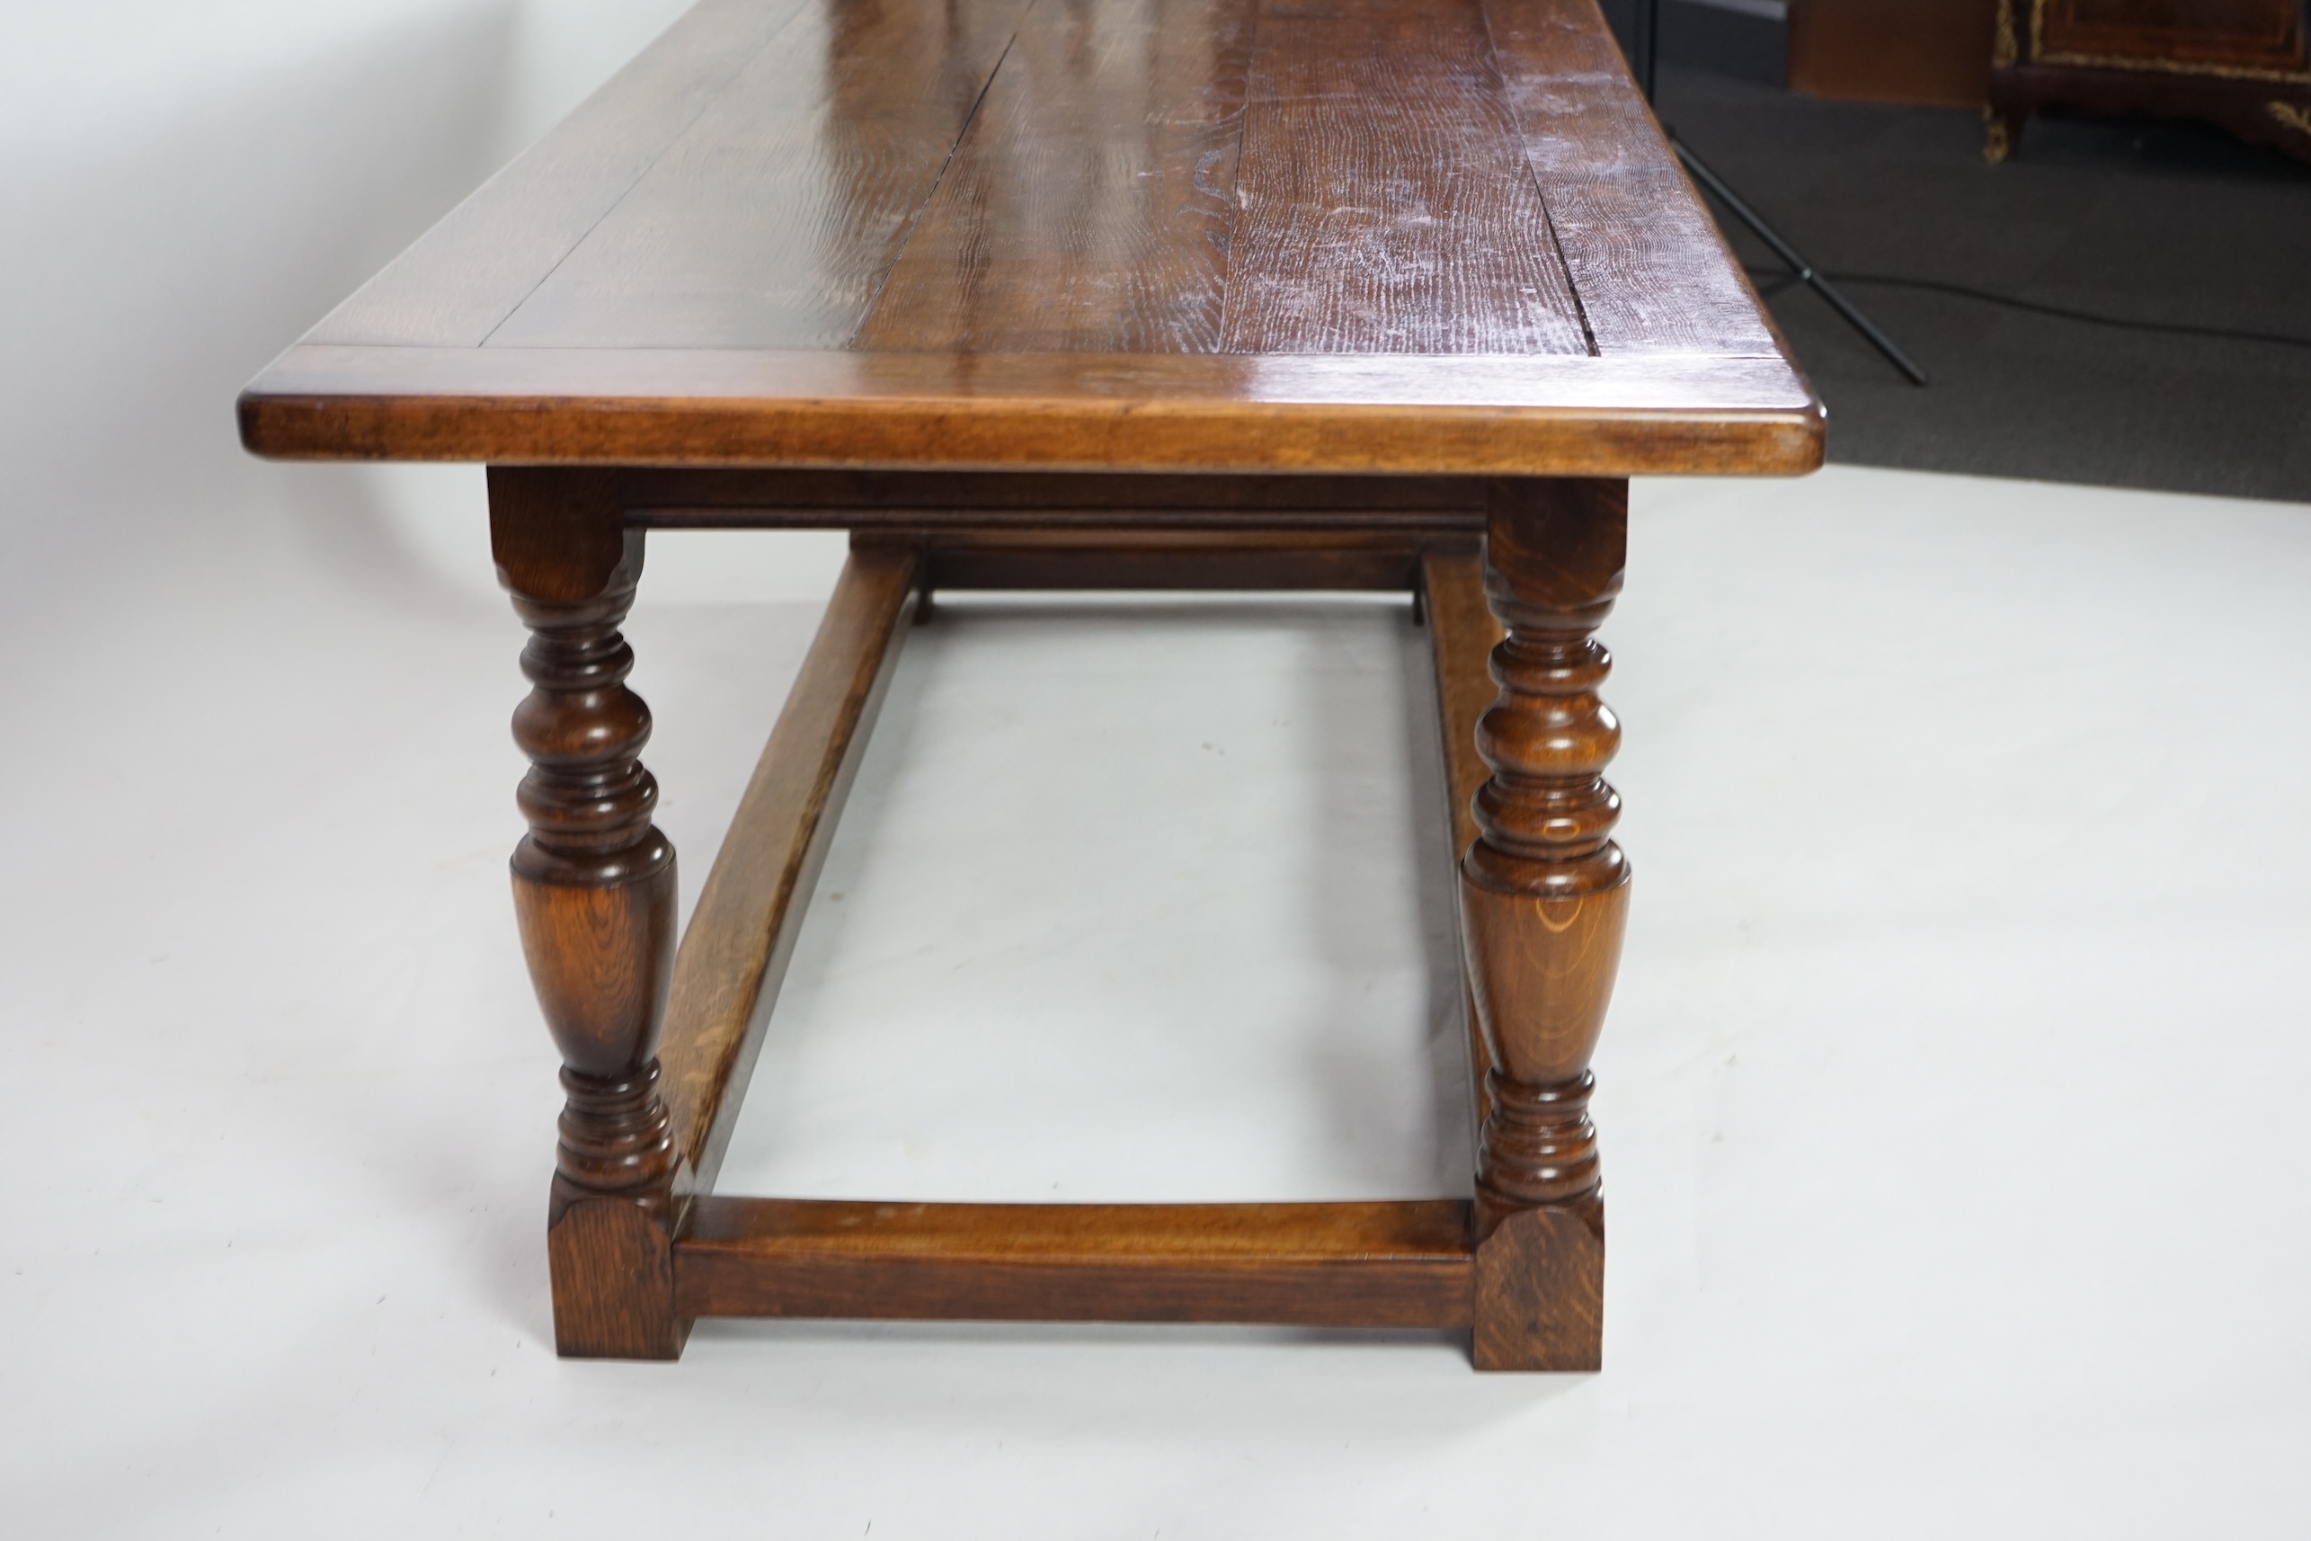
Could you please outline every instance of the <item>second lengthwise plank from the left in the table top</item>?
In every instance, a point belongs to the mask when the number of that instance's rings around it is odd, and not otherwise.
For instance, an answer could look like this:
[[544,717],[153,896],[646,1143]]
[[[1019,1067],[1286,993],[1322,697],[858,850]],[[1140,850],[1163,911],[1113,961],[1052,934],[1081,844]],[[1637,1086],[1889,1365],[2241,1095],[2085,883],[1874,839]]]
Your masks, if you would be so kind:
[[846,347],[1026,9],[811,5],[490,347]]

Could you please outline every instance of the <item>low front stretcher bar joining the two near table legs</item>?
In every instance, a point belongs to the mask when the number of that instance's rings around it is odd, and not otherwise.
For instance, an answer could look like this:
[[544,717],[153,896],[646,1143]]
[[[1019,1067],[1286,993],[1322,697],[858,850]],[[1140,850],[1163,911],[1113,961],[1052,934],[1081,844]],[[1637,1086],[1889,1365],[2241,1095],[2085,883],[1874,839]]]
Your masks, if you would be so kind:
[[700,1199],[686,1317],[1467,1326],[1467,1204]]

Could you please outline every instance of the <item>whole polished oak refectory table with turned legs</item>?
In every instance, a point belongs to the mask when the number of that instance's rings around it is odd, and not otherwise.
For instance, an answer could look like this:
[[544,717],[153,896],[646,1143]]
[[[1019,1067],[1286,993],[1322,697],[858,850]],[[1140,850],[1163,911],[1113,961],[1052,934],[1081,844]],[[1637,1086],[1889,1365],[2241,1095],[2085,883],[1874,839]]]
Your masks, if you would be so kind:
[[[1592,640],[1632,474],[1821,407],[1592,0],[705,0],[282,353],[243,441],[488,462],[532,631],[513,899],[562,1051],[564,1354],[698,1317],[1474,1328],[1597,1368],[1629,901]],[[619,621],[647,531],[850,559],[675,938]],[[837,1204],[716,1167],[938,589],[1398,589],[1454,795],[1472,1199]]]

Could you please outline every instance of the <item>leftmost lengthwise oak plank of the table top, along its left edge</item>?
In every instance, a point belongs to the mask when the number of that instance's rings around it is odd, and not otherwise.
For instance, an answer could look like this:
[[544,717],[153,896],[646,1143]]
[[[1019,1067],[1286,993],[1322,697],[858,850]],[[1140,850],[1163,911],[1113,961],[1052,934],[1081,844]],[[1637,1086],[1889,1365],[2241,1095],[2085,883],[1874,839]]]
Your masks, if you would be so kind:
[[809,0],[705,0],[333,310],[310,342],[476,347]]

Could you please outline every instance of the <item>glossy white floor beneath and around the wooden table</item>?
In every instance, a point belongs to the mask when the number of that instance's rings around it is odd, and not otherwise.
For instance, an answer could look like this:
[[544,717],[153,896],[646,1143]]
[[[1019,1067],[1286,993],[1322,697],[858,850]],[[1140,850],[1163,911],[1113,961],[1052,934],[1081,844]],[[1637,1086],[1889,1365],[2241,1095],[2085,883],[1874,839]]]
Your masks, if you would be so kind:
[[[2311,1529],[2311,511],[1638,485],[1602,1375],[841,1324],[666,1368],[550,1349],[478,474],[243,485],[12,631],[0,1532]],[[689,894],[834,554],[654,545]],[[1421,647],[1370,601],[917,631],[726,1190],[1454,1192]]]

